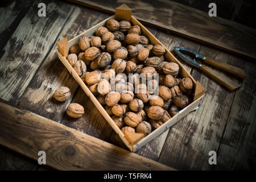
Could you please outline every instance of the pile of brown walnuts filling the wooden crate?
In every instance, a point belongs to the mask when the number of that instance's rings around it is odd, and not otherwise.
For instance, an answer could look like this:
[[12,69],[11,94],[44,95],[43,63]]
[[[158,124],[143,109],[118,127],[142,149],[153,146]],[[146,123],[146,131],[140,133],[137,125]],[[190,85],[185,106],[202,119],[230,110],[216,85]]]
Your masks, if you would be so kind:
[[[179,65],[165,61],[165,52],[163,46],[150,44],[139,26],[109,19],[95,36],[82,36],[67,60],[123,133],[148,135],[186,107],[193,94],[191,78],[179,78]],[[140,91],[135,94],[135,85],[119,73],[134,73],[134,79],[159,73],[159,96],[148,100],[152,93],[144,84],[137,85]],[[115,89],[110,87],[111,79]]]

